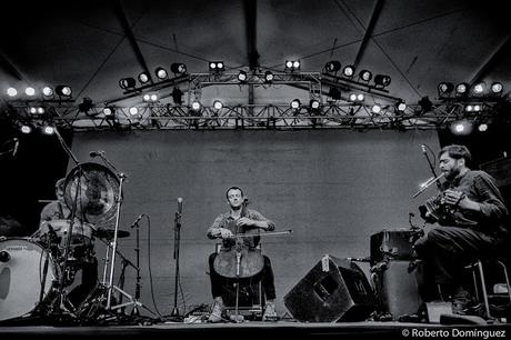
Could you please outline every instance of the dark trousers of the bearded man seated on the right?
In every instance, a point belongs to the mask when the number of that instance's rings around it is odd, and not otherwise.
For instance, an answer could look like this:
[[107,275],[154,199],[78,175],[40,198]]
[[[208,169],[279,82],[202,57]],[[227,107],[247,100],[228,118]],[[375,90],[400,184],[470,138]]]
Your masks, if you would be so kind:
[[437,298],[437,284],[445,293],[454,292],[462,287],[463,267],[475,259],[495,254],[501,246],[502,240],[467,228],[438,227],[430,230],[413,246],[423,260],[425,287],[421,289],[422,298],[425,301]]

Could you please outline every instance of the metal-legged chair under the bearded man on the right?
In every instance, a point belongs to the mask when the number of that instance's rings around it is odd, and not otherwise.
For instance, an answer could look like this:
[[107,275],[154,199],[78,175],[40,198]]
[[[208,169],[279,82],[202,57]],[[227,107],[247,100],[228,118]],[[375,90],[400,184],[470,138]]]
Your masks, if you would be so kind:
[[[509,274],[508,274],[508,269],[505,267],[505,263],[500,260],[500,259],[479,259],[475,262],[470,263],[469,266],[465,266],[465,269],[472,271],[472,278],[473,278],[473,284],[474,284],[474,291],[475,291],[475,299],[481,302],[481,297],[479,293],[479,288],[481,288],[481,293],[482,293],[482,303],[484,304],[484,312],[488,319],[497,319],[493,317],[490,312],[490,298],[501,298],[503,297],[502,293],[492,293],[489,294],[487,290],[487,280],[484,278],[484,268],[483,268],[483,261],[494,261],[498,267],[502,269],[502,273],[505,280],[505,288],[507,288],[507,294],[509,298],[509,302],[511,303],[511,284],[509,281]],[[485,263],[487,264],[487,263]],[[479,278],[479,281],[478,281]],[[479,288],[478,288],[479,287]]]

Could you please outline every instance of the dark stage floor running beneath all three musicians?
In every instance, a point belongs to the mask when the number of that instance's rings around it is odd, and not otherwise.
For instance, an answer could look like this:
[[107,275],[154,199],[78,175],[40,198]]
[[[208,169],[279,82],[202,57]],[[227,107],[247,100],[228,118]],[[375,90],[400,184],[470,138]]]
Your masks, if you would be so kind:
[[[261,337],[305,337],[343,339],[407,339],[407,338],[470,338],[505,339],[511,332],[510,323],[493,324],[438,324],[404,323],[397,321],[361,322],[261,322],[241,323],[184,323],[162,322],[137,326],[0,326],[2,339],[56,339],[56,338],[108,338],[108,339],[147,339],[158,337],[241,337],[242,339],[261,339]],[[265,338],[263,338],[265,339]]]

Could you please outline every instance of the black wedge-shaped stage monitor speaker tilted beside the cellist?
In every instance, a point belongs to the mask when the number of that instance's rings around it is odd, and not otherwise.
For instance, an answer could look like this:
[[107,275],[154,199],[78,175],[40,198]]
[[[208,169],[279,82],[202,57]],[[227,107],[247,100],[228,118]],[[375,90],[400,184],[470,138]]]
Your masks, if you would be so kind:
[[375,296],[354,262],[325,254],[284,296],[299,321],[362,321],[375,309]]

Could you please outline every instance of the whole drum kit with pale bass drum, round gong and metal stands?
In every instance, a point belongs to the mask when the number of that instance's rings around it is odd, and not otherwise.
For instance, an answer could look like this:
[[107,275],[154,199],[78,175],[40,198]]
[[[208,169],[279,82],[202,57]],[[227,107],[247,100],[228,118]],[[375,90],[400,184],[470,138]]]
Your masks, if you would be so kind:
[[[133,310],[146,308],[139,297],[133,298],[113,284],[116,257],[139,272],[138,261],[137,266],[131,263],[117,249],[118,239],[130,234],[119,230],[124,177],[99,163],[78,164],[64,181],[69,219],[44,221],[29,238],[0,238],[0,321],[46,317],[80,323],[84,318],[97,319],[98,313],[119,314],[127,306],[133,306]],[[111,226],[113,219],[114,228],[98,227]],[[97,239],[107,244],[103,277],[76,306],[68,296],[77,286],[77,272],[92,266],[97,277]],[[139,287],[139,276],[137,281]],[[113,306],[122,297],[129,302]]]

